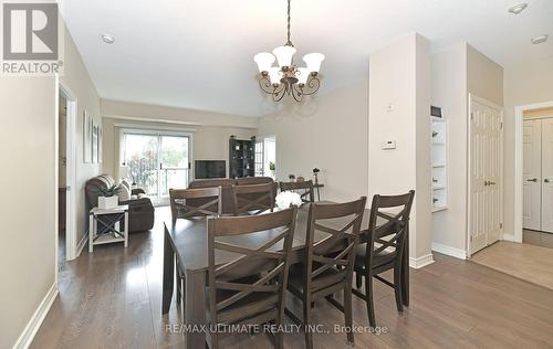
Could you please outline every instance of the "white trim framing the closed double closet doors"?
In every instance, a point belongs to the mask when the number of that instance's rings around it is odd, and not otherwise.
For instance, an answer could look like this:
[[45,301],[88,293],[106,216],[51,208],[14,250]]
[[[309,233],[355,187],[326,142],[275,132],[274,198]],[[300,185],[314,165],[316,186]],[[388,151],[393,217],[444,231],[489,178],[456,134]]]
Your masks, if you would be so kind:
[[[501,117],[501,131],[500,131],[500,140],[499,140],[499,144],[500,144],[500,189],[499,189],[499,195],[500,195],[500,210],[499,212],[501,212],[500,216],[501,216],[501,222],[503,222],[503,181],[504,181],[504,171],[503,171],[503,134],[504,134],[504,110],[503,110],[503,107],[500,106],[500,105],[497,105],[492,102],[489,102],[484,98],[481,98],[474,94],[471,94],[469,93],[469,98],[468,98],[468,109],[467,109],[467,124],[468,124],[468,127],[467,127],[467,258],[470,258],[470,256],[472,255],[472,252],[471,252],[471,244],[470,244],[470,235],[471,235],[471,230],[470,230],[470,226],[471,226],[471,220],[472,220],[472,216],[470,214],[471,212],[471,198],[470,198],[470,193],[471,193],[471,188],[472,188],[472,183],[471,183],[471,166],[470,166],[470,150],[471,150],[471,145],[472,145],[472,123],[471,123],[471,117],[470,117],[470,113],[472,110],[472,104],[474,102],[478,102],[480,104],[483,104],[490,108],[493,108],[493,109],[497,109],[500,114],[500,117]],[[521,128],[522,130],[522,128]],[[522,220],[522,215],[521,215],[521,220]],[[504,223],[503,223],[503,226],[504,226]],[[503,235],[503,226],[501,228],[500,230],[500,239],[502,239],[502,235]],[[487,244],[488,245],[488,244]]]

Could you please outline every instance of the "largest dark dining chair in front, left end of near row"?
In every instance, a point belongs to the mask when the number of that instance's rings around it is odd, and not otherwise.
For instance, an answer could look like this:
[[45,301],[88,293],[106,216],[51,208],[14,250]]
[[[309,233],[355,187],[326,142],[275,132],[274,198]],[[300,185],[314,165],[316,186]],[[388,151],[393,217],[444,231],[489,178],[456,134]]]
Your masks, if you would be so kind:
[[[260,215],[208,219],[210,328],[281,325],[296,213],[298,208],[292,208]],[[210,348],[219,348],[220,335],[208,334]],[[274,335],[276,348],[283,348],[282,336],[282,331]]]

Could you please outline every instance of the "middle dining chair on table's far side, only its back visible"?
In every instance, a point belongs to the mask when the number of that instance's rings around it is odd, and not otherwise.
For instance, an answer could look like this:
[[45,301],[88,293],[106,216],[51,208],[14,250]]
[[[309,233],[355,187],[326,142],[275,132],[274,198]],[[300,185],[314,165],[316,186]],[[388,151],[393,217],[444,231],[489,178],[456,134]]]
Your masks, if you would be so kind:
[[273,182],[250,186],[232,186],[234,215],[259,214],[274,210]]

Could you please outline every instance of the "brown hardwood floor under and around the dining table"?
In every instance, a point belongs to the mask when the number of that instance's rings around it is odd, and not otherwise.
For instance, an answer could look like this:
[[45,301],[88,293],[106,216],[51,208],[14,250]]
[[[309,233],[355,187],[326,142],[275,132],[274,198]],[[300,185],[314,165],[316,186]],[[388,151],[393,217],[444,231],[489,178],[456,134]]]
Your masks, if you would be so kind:
[[[165,330],[180,324],[179,309],[161,316],[163,220],[118,245],[86,248],[60,272],[55,300],[32,348],[178,348],[182,335]],[[355,334],[357,348],[553,348],[553,292],[472,262],[435,255],[436,263],[411,269],[411,305],[403,315],[393,289],[375,284],[375,308],[385,332]],[[340,298],[340,297],[337,297]],[[299,303],[289,297],[299,313]],[[354,297],[354,324],[368,326],[365,304]],[[343,315],[326,300],[314,318],[331,334],[316,334],[315,348],[344,348],[334,334]],[[286,348],[303,348],[301,332],[286,334]],[[227,338],[228,348],[267,348],[264,335]]]

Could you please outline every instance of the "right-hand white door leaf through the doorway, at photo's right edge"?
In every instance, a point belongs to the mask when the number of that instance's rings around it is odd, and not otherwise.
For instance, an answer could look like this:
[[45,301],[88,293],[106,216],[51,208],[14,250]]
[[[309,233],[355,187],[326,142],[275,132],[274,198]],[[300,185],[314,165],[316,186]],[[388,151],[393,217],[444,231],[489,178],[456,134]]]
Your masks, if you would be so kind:
[[[540,121],[540,120],[539,120]],[[544,232],[553,232],[553,118],[544,118],[542,123],[542,192],[541,216]],[[540,230],[540,226],[536,228]]]

